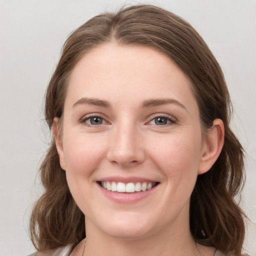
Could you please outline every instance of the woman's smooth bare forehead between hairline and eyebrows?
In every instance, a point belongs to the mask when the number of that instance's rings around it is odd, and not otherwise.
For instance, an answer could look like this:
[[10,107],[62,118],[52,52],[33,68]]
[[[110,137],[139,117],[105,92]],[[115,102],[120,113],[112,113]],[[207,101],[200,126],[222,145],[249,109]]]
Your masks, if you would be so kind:
[[123,103],[155,97],[188,104],[194,101],[189,80],[164,53],[147,46],[115,43],[95,47],[75,65],[66,100],[71,103],[81,97]]

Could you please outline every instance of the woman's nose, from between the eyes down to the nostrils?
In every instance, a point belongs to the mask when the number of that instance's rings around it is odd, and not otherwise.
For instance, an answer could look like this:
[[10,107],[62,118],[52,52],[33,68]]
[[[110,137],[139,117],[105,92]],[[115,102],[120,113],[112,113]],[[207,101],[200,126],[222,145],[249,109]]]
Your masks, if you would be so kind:
[[145,152],[141,140],[135,125],[116,127],[109,143],[108,160],[122,167],[132,167],[143,162]]

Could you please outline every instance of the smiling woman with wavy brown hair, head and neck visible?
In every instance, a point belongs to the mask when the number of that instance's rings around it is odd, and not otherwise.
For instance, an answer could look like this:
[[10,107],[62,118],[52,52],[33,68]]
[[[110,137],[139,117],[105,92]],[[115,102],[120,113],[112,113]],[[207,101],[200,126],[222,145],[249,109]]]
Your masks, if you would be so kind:
[[222,71],[182,18],[136,5],[81,25],[46,91],[35,255],[241,255],[229,116]]

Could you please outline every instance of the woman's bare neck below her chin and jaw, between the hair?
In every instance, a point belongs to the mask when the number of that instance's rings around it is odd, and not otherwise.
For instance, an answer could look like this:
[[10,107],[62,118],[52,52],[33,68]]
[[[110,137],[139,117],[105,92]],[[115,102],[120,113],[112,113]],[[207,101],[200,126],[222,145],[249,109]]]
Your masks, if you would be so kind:
[[[184,218],[183,218],[184,220]],[[183,256],[200,255],[189,230],[189,219],[180,225],[174,221],[150,235],[134,238],[116,238],[99,231],[86,219],[86,256]]]

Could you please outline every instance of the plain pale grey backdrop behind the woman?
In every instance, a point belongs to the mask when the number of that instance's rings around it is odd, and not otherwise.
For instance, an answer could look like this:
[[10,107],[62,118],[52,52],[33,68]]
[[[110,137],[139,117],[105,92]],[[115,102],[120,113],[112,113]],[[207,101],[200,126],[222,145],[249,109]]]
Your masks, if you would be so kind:
[[47,148],[42,101],[66,36],[88,18],[123,3],[151,3],[182,16],[219,61],[233,100],[232,127],[247,151],[241,205],[248,214],[245,248],[256,255],[255,0],[0,0],[0,255],[31,253],[31,203]]

